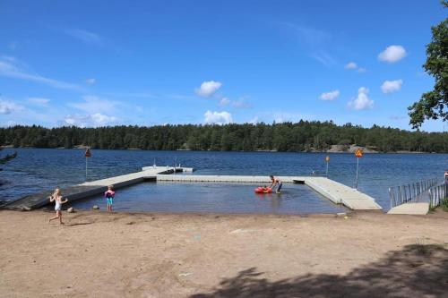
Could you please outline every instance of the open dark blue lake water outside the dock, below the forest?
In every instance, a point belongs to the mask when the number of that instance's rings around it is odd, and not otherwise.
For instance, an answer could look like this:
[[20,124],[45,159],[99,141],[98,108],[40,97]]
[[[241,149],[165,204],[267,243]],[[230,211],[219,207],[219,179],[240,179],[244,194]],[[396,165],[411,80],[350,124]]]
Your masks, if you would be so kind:
[[[4,149],[1,154],[12,152]],[[84,150],[17,149],[19,156],[0,172],[2,200],[82,183],[85,179]],[[202,152],[93,150],[89,179],[106,178],[139,171],[142,166],[174,165],[197,169],[196,175],[324,175],[325,153]],[[349,186],[355,184],[356,158],[352,154],[329,154],[329,178]],[[440,177],[448,168],[448,154],[366,154],[359,160],[361,192],[389,209],[388,187]]]

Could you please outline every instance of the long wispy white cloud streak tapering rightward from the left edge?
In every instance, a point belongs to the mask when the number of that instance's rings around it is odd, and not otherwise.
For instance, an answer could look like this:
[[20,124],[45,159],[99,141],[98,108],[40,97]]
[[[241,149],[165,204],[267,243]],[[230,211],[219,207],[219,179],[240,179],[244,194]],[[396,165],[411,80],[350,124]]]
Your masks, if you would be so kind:
[[39,74],[28,72],[23,69],[14,57],[0,57],[0,76],[22,79],[26,81],[36,81],[54,87],[56,89],[81,89],[79,86],[43,77]]

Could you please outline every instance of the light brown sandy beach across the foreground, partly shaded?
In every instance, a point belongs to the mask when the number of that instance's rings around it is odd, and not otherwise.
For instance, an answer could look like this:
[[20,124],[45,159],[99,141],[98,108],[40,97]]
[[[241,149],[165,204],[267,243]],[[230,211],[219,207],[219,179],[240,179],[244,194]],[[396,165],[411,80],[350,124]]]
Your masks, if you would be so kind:
[[448,213],[0,211],[1,297],[448,297]]

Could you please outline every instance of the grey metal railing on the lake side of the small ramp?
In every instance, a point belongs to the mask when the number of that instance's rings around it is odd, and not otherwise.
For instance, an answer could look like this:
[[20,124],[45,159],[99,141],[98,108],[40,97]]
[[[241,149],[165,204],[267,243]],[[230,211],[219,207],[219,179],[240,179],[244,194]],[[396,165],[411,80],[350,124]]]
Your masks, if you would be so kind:
[[438,179],[432,178],[417,183],[389,187],[391,208],[409,201],[418,201],[431,187],[437,185]]

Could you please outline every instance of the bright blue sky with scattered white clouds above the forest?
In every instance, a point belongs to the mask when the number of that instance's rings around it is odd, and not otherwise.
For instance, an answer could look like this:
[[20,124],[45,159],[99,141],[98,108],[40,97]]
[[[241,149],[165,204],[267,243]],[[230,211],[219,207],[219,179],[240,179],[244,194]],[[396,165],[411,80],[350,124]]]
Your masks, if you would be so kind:
[[438,0],[1,0],[0,126],[410,130],[408,106],[434,86],[431,26],[447,13]]

